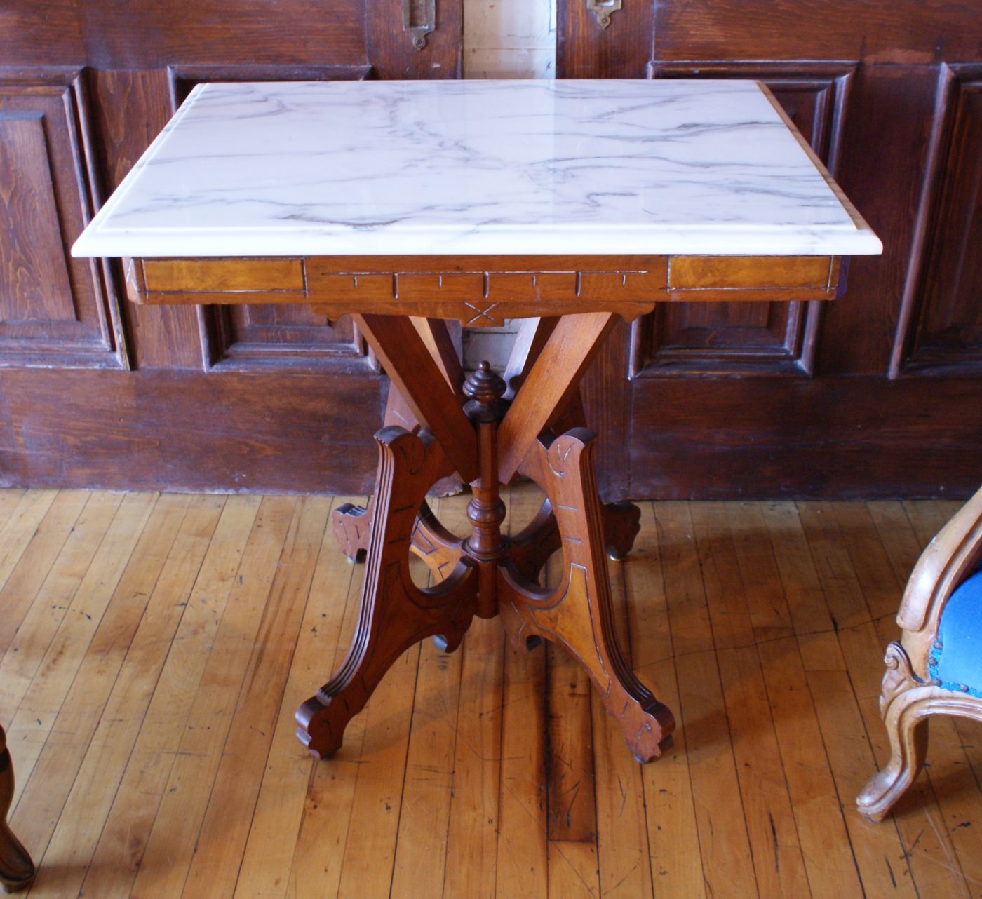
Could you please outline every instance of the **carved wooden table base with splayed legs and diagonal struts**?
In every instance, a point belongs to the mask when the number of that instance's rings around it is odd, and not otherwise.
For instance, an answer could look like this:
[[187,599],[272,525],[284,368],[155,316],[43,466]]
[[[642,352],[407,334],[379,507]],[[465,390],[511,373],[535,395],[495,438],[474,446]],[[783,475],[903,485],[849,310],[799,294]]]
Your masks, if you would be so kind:
[[[456,357],[441,356],[442,322],[361,317],[359,328],[398,394],[390,397],[387,426],[375,435],[379,463],[370,514],[349,505],[334,516],[343,549],[352,558],[364,551],[366,569],[348,658],[297,713],[298,737],[318,758],[341,747],[348,722],[412,644],[434,637],[453,652],[474,615],[500,615],[519,650],[532,651],[543,639],[564,646],[589,672],[635,758],[647,762],[661,754],[675,719],[621,651],[605,559],[627,554],[639,512],[625,502],[602,505],[595,438],[579,425],[576,384],[612,318],[528,320],[538,339],[518,341],[522,357],[513,358],[506,377],[520,388],[509,406],[502,397],[510,384],[486,363],[464,382]],[[557,435],[557,423],[573,427]],[[464,539],[447,531],[426,504],[433,484],[455,471],[472,491],[472,533]],[[500,529],[500,487],[516,471],[547,499],[510,540]],[[543,588],[538,574],[560,549],[562,581]],[[436,586],[415,586],[410,552],[426,562]]]

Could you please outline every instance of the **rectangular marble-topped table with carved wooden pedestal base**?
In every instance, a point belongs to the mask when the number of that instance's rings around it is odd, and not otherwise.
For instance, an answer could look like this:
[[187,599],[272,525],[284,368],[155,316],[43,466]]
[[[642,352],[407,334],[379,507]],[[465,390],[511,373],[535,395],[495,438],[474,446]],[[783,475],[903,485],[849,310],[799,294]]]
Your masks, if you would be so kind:
[[[370,515],[335,515],[367,567],[349,656],[297,714],[315,755],[409,646],[500,615],[519,649],[572,652],[647,761],[674,719],[618,646],[605,560],[637,509],[599,500],[578,382],[618,317],[832,299],[842,258],[880,249],[752,81],[363,81],[196,87],[74,253],[124,257],[136,302],[354,315],[392,379]],[[506,318],[526,319],[507,370],[464,378],[447,320]],[[426,504],[455,472],[465,538]],[[547,500],[509,539],[518,473]]]

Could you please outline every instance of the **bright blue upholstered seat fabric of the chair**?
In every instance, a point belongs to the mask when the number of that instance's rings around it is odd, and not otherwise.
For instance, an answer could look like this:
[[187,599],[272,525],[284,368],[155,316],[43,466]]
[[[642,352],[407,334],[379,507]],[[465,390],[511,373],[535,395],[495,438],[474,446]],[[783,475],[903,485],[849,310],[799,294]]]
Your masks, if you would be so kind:
[[945,605],[929,663],[933,682],[982,698],[982,569],[962,581]]

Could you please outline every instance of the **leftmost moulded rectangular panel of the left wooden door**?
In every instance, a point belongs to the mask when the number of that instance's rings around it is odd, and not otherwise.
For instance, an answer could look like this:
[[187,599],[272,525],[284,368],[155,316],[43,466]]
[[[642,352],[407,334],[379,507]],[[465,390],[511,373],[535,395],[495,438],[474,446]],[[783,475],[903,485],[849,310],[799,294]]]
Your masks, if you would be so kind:
[[81,75],[0,73],[0,360],[126,367],[119,304],[98,260],[73,259],[94,189]]

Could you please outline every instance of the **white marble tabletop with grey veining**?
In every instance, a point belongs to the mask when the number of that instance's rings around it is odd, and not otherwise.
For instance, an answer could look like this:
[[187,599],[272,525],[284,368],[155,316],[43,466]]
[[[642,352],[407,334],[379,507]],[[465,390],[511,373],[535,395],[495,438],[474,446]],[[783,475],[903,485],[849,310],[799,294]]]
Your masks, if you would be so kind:
[[880,251],[739,80],[199,85],[73,248]]

